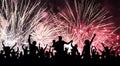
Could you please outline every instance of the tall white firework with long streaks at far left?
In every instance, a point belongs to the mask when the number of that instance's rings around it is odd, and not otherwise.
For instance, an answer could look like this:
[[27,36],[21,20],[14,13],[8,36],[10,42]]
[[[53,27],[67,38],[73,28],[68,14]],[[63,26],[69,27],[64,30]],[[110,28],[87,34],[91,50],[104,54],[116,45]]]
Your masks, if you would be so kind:
[[0,3],[0,39],[10,45],[26,41],[47,9],[41,0],[0,0]]

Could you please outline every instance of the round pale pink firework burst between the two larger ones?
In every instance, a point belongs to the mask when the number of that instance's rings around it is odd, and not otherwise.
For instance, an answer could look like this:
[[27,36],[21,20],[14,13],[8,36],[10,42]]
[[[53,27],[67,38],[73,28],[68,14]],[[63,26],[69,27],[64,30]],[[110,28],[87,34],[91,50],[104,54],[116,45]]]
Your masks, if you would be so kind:
[[47,15],[47,19],[39,23],[32,33],[33,40],[37,41],[42,47],[46,44],[52,45],[52,40],[56,40],[60,34],[64,34],[64,28],[59,20],[53,15]]

